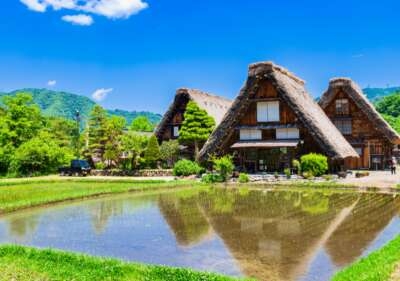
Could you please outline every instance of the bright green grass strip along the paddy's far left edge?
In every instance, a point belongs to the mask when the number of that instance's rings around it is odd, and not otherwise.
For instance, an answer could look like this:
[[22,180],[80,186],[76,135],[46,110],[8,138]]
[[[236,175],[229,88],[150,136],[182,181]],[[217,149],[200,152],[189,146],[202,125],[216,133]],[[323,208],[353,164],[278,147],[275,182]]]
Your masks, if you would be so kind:
[[189,181],[134,181],[128,179],[23,179],[0,183],[0,214],[66,200],[103,194],[197,185]]

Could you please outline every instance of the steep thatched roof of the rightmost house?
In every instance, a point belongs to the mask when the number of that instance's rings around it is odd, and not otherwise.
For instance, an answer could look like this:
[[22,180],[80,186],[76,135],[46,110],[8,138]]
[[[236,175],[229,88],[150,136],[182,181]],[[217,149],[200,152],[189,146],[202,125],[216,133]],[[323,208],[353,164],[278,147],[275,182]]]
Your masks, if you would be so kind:
[[335,98],[336,93],[344,91],[354,103],[364,112],[376,129],[392,143],[400,144],[399,134],[382,118],[372,103],[363,94],[361,88],[349,78],[333,78],[329,82],[328,90],[322,95],[319,105],[326,108]]

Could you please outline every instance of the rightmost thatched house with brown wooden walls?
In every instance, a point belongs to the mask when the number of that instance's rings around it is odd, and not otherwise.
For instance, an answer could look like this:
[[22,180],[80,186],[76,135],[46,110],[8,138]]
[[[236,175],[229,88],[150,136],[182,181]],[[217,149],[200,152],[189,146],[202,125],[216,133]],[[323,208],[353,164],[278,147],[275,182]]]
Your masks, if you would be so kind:
[[388,166],[400,136],[355,82],[349,78],[332,79],[319,104],[360,156],[348,159],[346,166],[373,170]]

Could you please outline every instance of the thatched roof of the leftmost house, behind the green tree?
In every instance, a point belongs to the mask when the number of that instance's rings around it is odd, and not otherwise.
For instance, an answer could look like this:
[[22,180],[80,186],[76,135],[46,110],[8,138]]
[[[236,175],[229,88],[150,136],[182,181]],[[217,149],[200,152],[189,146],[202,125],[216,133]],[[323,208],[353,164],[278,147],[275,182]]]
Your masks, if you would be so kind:
[[226,111],[232,104],[232,101],[220,96],[211,95],[200,90],[181,88],[176,91],[174,101],[165,112],[161,122],[156,129],[156,136],[161,137],[165,130],[165,126],[170,122],[177,107],[182,100],[192,100],[196,104],[207,111],[208,115],[214,118],[216,126],[221,122]]

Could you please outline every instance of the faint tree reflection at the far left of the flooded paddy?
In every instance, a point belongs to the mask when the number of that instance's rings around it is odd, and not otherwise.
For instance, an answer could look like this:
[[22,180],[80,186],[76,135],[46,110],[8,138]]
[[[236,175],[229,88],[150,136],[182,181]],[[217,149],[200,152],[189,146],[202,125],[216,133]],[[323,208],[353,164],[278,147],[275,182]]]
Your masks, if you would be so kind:
[[19,239],[33,236],[39,223],[38,215],[12,216],[7,219],[9,235]]

